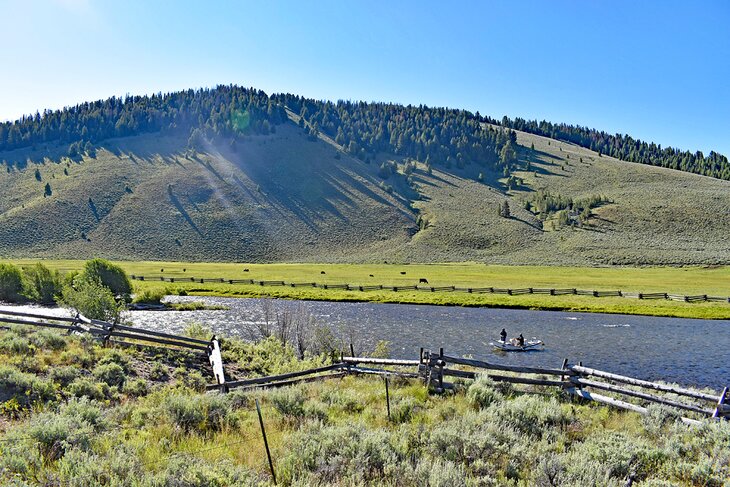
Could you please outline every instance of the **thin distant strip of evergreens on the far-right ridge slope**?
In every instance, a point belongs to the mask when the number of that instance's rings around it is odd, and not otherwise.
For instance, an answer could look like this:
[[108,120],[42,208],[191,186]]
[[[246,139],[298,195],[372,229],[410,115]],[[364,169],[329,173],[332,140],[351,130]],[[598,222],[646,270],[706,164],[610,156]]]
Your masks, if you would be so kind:
[[705,156],[701,151],[692,153],[674,147],[662,148],[660,144],[644,142],[628,135],[611,135],[588,127],[565,123],[555,124],[545,120],[538,122],[537,120],[524,120],[522,118],[511,120],[504,117],[502,126],[572,142],[599,154],[606,154],[622,161],[667,167],[730,180],[730,163],[728,163],[727,157],[715,151],[710,151]]

